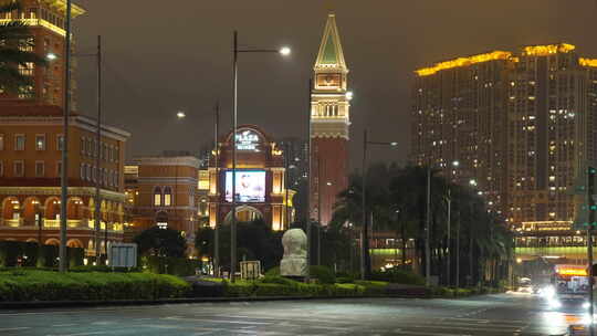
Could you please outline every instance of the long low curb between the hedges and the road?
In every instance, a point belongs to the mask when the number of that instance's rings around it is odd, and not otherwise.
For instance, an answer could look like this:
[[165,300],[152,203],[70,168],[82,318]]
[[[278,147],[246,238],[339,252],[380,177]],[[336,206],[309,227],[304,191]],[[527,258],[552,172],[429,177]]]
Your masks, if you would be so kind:
[[145,306],[188,303],[226,303],[262,301],[306,301],[306,300],[346,300],[346,298],[427,298],[405,295],[385,296],[247,296],[247,297],[197,297],[163,300],[109,300],[109,301],[33,301],[0,302],[0,309],[32,309],[61,307],[101,307],[101,306]]

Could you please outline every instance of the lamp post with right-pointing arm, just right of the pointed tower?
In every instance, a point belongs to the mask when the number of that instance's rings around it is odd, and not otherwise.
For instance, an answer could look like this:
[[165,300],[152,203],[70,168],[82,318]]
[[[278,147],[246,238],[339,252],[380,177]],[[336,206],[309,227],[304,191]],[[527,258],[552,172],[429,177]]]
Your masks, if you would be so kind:
[[[350,94],[352,96],[352,94]],[[367,280],[369,277],[370,273],[370,258],[369,258],[369,230],[368,230],[368,223],[367,223],[367,149],[368,145],[378,145],[378,146],[391,146],[396,147],[398,146],[398,143],[380,143],[380,141],[369,141],[367,137],[367,128],[363,130],[363,174],[362,174],[362,185],[363,185],[363,191],[360,196],[360,208],[362,208],[362,230],[360,230],[360,280]]]

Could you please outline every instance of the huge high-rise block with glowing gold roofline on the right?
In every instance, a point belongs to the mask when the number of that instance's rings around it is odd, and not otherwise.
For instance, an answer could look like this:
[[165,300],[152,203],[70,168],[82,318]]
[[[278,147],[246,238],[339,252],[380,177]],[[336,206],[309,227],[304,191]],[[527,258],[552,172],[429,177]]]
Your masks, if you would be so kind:
[[572,189],[596,162],[596,117],[597,60],[572,44],[459,57],[416,71],[411,159],[475,179],[520,255],[584,259]]

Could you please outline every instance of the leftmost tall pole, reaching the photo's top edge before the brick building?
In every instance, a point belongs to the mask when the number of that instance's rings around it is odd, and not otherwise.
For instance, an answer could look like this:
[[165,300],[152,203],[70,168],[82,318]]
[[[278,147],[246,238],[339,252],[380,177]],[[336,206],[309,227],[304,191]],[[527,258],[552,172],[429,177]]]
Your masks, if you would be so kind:
[[69,117],[71,109],[71,0],[66,0],[66,35],[64,43],[64,136],[62,143],[61,203],[60,203],[60,272],[66,272],[66,206],[69,201]]

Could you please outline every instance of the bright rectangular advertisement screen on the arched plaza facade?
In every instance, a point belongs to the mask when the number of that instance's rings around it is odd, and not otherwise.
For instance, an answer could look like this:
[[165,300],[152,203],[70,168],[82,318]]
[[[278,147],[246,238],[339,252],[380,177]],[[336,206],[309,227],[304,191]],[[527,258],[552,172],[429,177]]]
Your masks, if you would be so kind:
[[[237,170],[237,202],[256,203],[265,201],[265,171]],[[226,201],[232,201],[232,171],[226,172]]]

